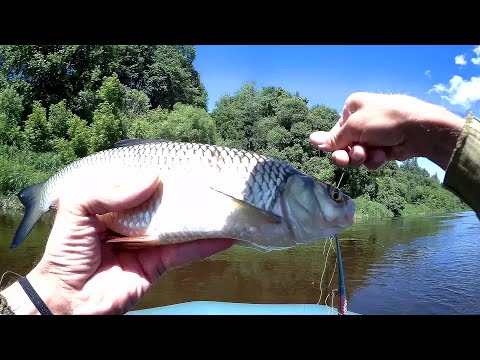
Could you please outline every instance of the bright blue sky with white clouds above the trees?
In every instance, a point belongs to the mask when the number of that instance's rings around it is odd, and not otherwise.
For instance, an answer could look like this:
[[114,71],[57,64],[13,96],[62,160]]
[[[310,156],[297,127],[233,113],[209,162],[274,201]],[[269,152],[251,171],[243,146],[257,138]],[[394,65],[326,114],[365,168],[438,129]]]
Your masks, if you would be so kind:
[[[342,110],[356,91],[403,93],[466,116],[480,115],[480,46],[476,45],[202,45],[195,68],[208,110],[246,82],[281,86],[309,106]],[[427,159],[419,164],[443,180]]]

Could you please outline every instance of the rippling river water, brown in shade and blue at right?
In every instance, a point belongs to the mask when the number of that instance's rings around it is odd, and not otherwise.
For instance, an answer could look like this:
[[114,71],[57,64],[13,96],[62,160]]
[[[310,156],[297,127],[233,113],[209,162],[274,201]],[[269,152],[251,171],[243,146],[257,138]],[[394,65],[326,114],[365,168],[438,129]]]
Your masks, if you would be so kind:
[[[53,216],[17,249],[21,215],[0,212],[0,274],[27,273]],[[360,314],[480,314],[480,222],[472,211],[357,221],[339,234],[348,310]],[[323,277],[322,277],[323,274]],[[337,306],[335,246],[318,241],[260,253],[232,247],[165,274],[135,309],[195,300]]]

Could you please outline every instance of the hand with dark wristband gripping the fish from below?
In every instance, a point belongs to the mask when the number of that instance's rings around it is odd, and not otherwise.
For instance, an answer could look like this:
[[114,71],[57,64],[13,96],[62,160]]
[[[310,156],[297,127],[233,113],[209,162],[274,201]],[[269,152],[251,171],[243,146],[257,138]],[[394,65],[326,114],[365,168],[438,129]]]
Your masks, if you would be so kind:
[[[136,251],[113,250],[105,243],[107,228],[96,215],[145,201],[158,179],[153,175],[140,178],[86,186],[85,191],[60,199],[45,253],[27,275],[53,314],[123,314],[167,270],[233,245],[229,239],[207,239]],[[16,314],[38,313],[18,283],[2,294]]]

